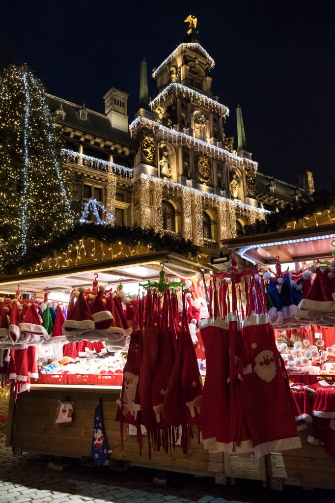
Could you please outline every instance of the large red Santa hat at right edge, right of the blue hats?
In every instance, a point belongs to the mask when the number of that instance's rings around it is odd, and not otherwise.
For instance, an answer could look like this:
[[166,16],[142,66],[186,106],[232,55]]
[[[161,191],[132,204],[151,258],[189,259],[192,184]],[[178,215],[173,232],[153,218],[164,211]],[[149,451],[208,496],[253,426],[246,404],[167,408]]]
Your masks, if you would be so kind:
[[316,273],[315,279],[306,297],[300,302],[299,309],[317,312],[334,312],[335,301],[332,297],[328,270],[326,269],[322,273],[321,269],[311,266],[311,271]]

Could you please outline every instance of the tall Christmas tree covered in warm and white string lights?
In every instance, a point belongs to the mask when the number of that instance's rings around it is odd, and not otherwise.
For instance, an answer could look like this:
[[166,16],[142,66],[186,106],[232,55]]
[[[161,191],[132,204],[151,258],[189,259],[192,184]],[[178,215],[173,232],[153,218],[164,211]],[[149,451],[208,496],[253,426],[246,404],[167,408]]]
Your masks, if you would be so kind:
[[71,225],[60,135],[27,66],[0,77],[0,268]]

